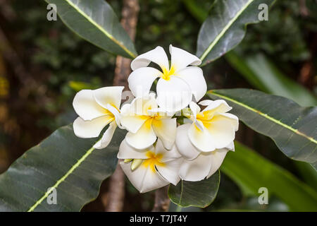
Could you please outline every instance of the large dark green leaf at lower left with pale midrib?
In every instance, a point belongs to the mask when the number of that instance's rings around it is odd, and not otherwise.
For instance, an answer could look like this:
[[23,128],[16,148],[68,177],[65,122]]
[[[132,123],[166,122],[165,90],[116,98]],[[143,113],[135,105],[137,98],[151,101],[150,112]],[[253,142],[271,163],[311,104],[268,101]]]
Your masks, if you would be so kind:
[[[107,148],[95,150],[97,138],[77,138],[72,125],[56,130],[0,175],[0,212],[79,211],[116,169],[124,135],[117,129]],[[57,204],[49,205],[53,189]]]

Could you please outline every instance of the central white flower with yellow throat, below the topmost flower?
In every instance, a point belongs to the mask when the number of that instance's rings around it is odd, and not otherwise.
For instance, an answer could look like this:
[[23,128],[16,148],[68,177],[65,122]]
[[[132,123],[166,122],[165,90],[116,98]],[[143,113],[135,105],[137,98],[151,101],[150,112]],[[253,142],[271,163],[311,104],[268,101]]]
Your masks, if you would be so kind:
[[125,140],[137,149],[148,148],[156,141],[156,136],[163,145],[170,149],[175,142],[176,119],[158,109],[153,93],[137,97],[131,104],[123,105],[121,109],[121,124],[129,132]]

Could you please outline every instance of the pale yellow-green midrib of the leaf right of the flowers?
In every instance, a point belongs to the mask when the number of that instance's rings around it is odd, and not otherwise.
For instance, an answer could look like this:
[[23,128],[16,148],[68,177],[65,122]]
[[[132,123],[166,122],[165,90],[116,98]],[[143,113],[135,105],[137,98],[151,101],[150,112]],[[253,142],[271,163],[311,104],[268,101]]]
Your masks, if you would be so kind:
[[269,115],[266,114],[266,113],[263,113],[263,112],[259,111],[258,109],[254,109],[254,108],[252,108],[252,107],[249,107],[248,105],[245,105],[244,103],[239,102],[239,101],[237,101],[237,100],[233,100],[233,99],[230,98],[230,97],[227,97],[227,96],[224,96],[224,95],[220,95],[220,94],[218,94],[218,93],[215,93],[215,91],[213,91],[213,90],[210,90],[208,93],[210,93],[211,95],[216,95],[216,96],[221,97],[221,98],[226,99],[226,100],[230,100],[231,102],[234,102],[234,103],[237,104],[237,105],[240,105],[240,106],[242,106],[242,107],[244,107],[244,108],[247,108],[247,109],[249,109],[250,111],[255,112],[256,114],[260,114],[262,117],[265,117],[266,119],[275,122],[275,124],[278,124],[278,125],[284,127],[285,129],[289,129],[289,130],[292,131],[293,133],[297,133],[297,135],[303,136],[304,138],[308,139],[308,140],[311,141],[312,143],[316,143],[316,144],[317,144],[317,141],[316,141],[314,138],[312,138],[312,137],[310,137],[310,136],[307,136],[305,133],[302,133],[302,132],[299,131],[298,129],[292,128],[292,126],[289,126],[289,125],[287,125],[287,124],[282,123],[281,121],[278,121],[277,119],[274,119],[273,117],[269,116]]

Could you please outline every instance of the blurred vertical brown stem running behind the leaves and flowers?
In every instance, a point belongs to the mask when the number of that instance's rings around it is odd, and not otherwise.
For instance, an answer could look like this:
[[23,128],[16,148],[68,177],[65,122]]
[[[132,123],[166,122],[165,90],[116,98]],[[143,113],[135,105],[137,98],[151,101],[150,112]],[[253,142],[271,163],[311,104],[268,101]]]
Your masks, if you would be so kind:
[[[138,0],[123,0],[123,10],[121,24],[128,32],[132,40],[135,40],[135,28],[137,26],[137,15],[139,13]],[[113,85],[123,85],[128,88],[128,76],[131,73],[131,59],[118,56],[116,59],[115,76]],[[123,210],[125,196],[125,175],[123,170],[118,165],[116,171],[110,179],[108,189],[108,205],[106,211],[120,212]]]

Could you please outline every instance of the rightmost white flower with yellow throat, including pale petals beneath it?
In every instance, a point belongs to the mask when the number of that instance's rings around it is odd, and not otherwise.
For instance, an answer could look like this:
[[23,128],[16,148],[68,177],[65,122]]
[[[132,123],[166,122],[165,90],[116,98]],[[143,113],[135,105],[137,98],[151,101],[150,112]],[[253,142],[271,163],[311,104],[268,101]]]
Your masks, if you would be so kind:
[[180,178],[200,181],[214,174],[228,153],[234,150],[233,140],[238,129],[238,118],[230,113],[231,107],[224,100],[203,100],[203,111],[194,102],[192,124],[178,126],[175,144],[185,159],[180,167]]

